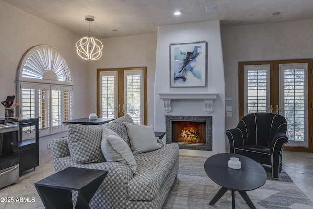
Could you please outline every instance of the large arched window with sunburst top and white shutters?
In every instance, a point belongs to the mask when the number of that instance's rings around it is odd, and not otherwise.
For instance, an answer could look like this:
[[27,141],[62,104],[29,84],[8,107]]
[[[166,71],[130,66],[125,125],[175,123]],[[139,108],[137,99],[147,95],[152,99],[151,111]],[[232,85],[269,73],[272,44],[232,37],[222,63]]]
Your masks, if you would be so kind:
[[[19,65],[17,85],[19,116],[39,117],[40,135],[65,130],[62,121],[72,119],[74,85],[58,50],[45,45],[29,49]],[[32,137],[32,128],[23,130],[25,139]]]

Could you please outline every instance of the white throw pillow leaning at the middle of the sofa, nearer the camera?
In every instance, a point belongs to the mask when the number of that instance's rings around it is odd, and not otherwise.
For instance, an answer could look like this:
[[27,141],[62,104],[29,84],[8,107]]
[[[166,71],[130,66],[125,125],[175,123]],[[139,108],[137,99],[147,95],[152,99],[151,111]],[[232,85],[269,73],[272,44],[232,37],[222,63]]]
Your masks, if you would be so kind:
[[115,132],[104,129],[102,132],[101,150],[106,161],[125,163],[135,174],[137,163],[130,147]]

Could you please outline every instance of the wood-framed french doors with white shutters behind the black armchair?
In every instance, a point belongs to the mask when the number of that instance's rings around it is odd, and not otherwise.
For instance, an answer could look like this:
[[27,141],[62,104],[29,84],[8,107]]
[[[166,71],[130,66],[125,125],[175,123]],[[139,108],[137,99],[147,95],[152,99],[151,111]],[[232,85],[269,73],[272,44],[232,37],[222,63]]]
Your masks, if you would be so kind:
[[286,118],[285,150],[312,152],[312,60],[239,63],[239,118],[273,112]]

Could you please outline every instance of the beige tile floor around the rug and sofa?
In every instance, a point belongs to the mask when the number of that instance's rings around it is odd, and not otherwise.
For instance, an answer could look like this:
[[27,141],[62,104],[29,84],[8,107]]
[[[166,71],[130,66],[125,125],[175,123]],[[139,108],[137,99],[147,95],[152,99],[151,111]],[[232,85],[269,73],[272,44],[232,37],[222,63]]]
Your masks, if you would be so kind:
[[[54,168],[51,154],[39,161],[35,171],[24,173],[16,184],[0,189],[0,209],[44,209],[34,183],[53,174]],[[283,169],[313,202],[313,153],[284,151]]]

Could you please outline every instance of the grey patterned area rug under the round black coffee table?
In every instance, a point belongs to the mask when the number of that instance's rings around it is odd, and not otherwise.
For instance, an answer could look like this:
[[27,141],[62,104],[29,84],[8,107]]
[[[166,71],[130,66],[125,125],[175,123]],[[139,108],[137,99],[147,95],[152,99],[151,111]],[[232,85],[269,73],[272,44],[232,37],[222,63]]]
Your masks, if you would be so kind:
[[[162,209],[231,209],[231,193],[210,206],[209,202],[221,188],[210,180],[204,171],[204,158],[179,157],[180,166]],[[284,171],[279,180],[268,174],[266,183],[253,191],[248,191],[257,209],[312,209],[313,203],[292,182]],[[235,192],[237,209],[248,209],[248,205],[238,192]]]

